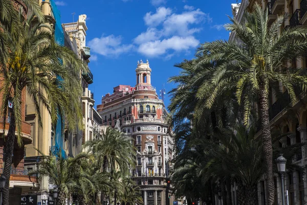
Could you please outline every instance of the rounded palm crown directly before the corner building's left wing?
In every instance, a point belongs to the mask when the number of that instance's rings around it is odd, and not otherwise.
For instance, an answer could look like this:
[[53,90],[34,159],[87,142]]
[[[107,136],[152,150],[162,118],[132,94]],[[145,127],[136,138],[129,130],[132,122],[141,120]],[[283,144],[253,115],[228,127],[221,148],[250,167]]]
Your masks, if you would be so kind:
[[[85,142],[84,148],[102,162],[101,172],[111,172],[112,175],[120,172],[122,177],[126,177],[136,160],[131,138],[117,129],[107,128],[96,139]],[[103,199],[104,192],[101,193],[101,201]]]

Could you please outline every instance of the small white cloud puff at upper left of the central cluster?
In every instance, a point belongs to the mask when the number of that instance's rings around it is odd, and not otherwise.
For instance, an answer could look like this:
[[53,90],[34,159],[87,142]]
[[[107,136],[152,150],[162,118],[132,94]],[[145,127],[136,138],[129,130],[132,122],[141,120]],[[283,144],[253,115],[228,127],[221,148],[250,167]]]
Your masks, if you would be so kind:
[[171,9],[165,8],[165,7],[159,7],[156,10],[156,13],[151,14],[151,12],[148,12],[144,16],[144,21],[147,26],[158,26],[164,20],[166,19],[167,16],[171,14]]

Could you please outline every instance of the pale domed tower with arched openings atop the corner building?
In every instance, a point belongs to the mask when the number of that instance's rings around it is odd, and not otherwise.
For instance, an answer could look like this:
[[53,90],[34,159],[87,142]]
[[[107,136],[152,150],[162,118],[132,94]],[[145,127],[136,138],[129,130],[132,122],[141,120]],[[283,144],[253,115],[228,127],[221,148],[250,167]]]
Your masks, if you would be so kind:
[[138,61],[138,67],[136,69],[137,74],[137,85],[136,90],[149,90],[151,87],[150,79],[151,69],[149,67],[149,62],[143,63],[142,59]]

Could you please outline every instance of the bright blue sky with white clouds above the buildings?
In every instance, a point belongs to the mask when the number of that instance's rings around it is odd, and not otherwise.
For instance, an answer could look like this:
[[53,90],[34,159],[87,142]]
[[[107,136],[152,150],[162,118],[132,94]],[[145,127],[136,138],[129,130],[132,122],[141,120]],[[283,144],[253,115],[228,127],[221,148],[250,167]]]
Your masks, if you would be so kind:
[[[149,60],[151,84],[166,92],[170,76],[180,70],[175,63],[191,59],[200,43],[228,39],[223,25],[232,16],[235,1],[208,0],[60,0],[61,22],[86,14],[86,46],[91,47],[95,105],[117,85],[136,84],[137,61]],[[170,97],[165,96],[166,106]]]

